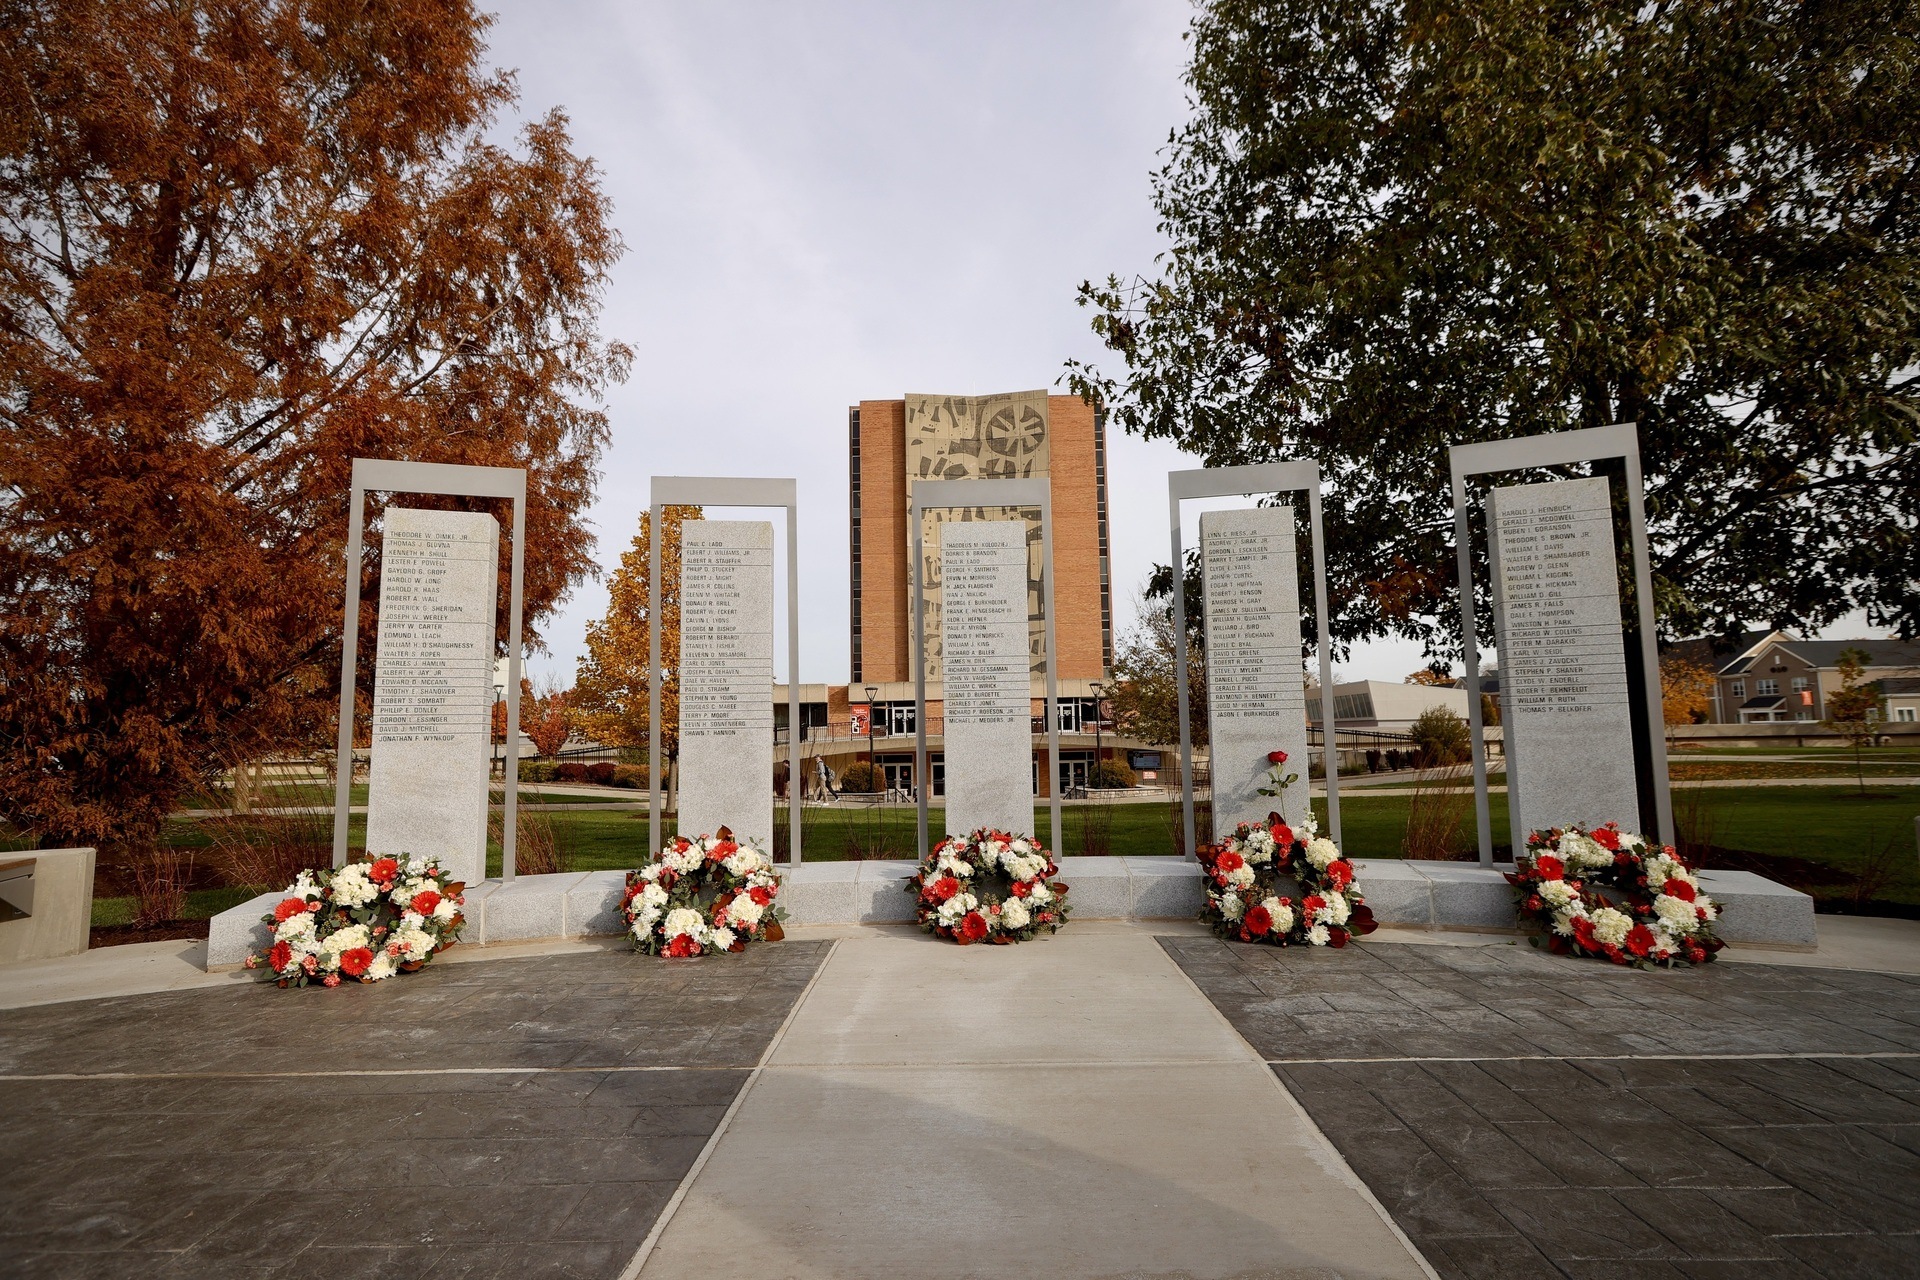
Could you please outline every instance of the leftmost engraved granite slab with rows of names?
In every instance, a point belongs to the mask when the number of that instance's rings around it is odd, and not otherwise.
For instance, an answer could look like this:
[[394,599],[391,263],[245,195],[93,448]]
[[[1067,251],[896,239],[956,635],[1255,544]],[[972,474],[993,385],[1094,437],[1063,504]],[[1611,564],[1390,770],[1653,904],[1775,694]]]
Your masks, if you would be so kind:
[[372,677],[367,852],[486,879],[499,522],[388,507]]

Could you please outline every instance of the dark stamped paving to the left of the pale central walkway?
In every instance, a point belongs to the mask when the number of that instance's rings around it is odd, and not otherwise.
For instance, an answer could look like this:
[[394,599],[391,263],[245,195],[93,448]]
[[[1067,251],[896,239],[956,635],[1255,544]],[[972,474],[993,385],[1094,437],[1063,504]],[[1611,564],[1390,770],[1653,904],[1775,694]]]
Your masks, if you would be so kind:
[[8,1011],[0,1274],[609,1280],[826,950]]

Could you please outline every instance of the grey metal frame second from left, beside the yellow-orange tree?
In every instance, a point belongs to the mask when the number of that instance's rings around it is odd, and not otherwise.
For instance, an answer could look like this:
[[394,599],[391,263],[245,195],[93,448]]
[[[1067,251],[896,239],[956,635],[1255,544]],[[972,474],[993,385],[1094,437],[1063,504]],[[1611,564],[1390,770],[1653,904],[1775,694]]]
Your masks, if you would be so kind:
[[[797,480],[655,476],[647,535],[647,844],[660,848],[660,532],[668,507],[785,507],[787,510],[787,865],[801,865],[801,503]],[[682,526],[684,528],[684,526]],[[676,664],[678,670],[678,664]],[[772,693],[772,689],[768,691]],[[772,787],[774,779],[766,779]],[[772,842],[774,833],[766,833]],[[772,856],[774,850],[766,850]]]

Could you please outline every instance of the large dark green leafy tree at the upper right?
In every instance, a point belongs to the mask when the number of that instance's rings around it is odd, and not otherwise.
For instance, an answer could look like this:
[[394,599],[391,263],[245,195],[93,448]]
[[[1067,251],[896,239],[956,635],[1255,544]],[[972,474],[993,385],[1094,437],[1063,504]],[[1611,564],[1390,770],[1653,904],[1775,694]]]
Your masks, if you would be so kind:
[[1081,286],[1123,370],[1068,380],[1317,459],[1334,639],[1453,651],[1448,445],[1626,420],[1674,631],[1912,633],[1916,40],[1889,0],[1208,0],[1169,249]]

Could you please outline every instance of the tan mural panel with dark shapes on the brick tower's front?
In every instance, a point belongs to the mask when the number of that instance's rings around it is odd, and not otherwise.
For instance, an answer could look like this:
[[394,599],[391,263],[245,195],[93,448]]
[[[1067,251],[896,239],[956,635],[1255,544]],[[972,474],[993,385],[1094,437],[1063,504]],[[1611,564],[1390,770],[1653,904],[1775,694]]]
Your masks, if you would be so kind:
[[[1050,459],[1046,391],[906,397],[906,486],[916,480],[1033,480]],[[1041,610],[1041,512],[1037,507],[935,507],[920,512],[920,581],[925,583],[927,679],[943,674],[939,526],[970,520],[1027,526],[1027,670],[1041,672],[1046,624]],[[912,530],[906,532],[912,555]]]

